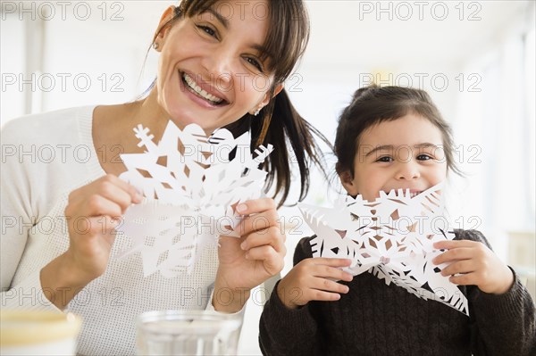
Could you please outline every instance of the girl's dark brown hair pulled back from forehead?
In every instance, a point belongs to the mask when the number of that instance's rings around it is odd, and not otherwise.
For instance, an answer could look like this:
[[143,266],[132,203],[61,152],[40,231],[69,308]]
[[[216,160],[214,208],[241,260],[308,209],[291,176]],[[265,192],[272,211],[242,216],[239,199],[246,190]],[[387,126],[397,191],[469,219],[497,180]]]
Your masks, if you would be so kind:
[[452,130],[432,103],[430,95],[410,87],[376,85],[357,89],[352,102],[340,114],[334,147],[338,158],[337,173],[349,171],[354,176],[354,159],[361,135],[367,128],[383,121],[397,120],[409,113],[422,116],[440,129],[448,170],[461,175],[454,161]]

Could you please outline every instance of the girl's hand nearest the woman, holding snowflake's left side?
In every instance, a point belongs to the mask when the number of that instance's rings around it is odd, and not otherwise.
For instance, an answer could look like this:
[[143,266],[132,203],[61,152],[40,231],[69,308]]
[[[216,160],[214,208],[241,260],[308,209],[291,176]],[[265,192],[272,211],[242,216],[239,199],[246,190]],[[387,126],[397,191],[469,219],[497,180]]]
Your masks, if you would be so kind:
[[339,268],[348,267],[347,259],[309,258],[300,261],[277,286],[281,302],[296,309],[310,301],[338,301],[340,293],[348,293],[348,286],[334,280],[351,281],[352,275]]

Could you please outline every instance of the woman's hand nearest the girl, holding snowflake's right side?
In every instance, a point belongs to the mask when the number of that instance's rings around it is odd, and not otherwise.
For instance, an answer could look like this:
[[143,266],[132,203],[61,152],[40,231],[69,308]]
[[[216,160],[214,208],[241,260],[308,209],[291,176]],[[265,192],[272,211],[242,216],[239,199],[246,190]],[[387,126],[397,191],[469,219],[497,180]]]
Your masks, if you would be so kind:
[[287,251],[272,199],[250,200],[236,209],[245,216],[235,228],[241,237],[220,237],[214,283],[214,309],[228,312],[241,310],[252,288],[283,269]]

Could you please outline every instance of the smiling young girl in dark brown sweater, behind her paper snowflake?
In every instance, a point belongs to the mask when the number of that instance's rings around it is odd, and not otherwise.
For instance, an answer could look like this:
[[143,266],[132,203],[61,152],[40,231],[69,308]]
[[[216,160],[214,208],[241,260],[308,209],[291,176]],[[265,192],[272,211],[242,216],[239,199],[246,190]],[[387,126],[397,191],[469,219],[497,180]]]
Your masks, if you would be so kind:
[[[447,122],[411,88],[357,90],[340,116],[335,153],[348,195],[369,201],[391,189],[423,192],[456,171]],[[456,230],[454,240],[434,244],[447,251],[433,263],[447,263],[441,274],[465,294],[470,317],[370,273],[352,277],[341,270],[349,260],[312,258],[311,239],[297,244],[294,268],[264,306],[264,354],[535,354],[532,298],[480,232]]]

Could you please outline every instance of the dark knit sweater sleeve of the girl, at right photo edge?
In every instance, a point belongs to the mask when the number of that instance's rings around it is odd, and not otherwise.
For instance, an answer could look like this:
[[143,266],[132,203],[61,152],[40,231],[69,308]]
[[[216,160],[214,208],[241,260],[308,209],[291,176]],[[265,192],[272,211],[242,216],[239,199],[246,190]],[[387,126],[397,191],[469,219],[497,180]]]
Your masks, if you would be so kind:
[[[468,230],[460,239],[490,244],[478,231]],[[534,302],[515,274],[505,294],[487,294],[478,287],[468,289],[473,329],[473,352],[477,355],[534,355],[536,327]]]

